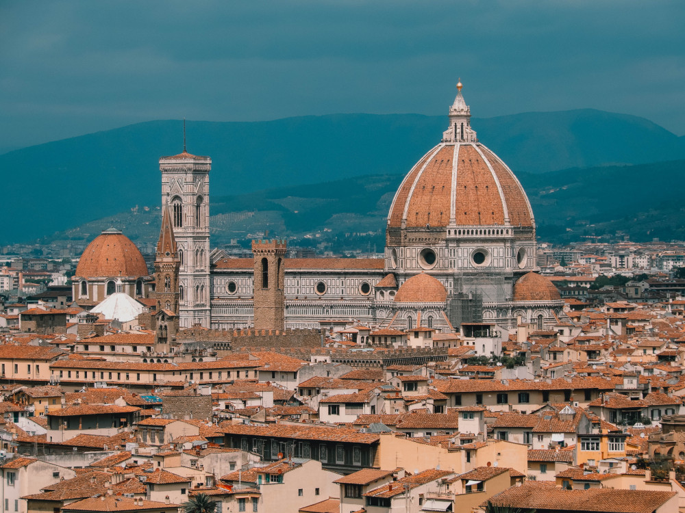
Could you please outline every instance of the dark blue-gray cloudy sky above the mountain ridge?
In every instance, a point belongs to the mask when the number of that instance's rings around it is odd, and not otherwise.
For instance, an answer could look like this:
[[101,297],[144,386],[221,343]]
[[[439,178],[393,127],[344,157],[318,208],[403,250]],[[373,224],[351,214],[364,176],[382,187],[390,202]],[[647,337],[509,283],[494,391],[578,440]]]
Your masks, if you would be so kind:
[[685,2],[0,0],[0,151],[134,122],[594,107],[685,133]]

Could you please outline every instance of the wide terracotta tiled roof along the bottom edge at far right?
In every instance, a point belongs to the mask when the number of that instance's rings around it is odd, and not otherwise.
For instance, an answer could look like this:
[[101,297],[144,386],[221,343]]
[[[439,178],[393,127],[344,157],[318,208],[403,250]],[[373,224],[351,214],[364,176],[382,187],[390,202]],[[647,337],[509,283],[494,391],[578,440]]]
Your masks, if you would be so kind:
[[676,492],[613,488],[562,490],[554,483],[527,482],[491,497],[490,501],[493,505],[515,504],[516,508],[538,511],[652,513],[675,495]]

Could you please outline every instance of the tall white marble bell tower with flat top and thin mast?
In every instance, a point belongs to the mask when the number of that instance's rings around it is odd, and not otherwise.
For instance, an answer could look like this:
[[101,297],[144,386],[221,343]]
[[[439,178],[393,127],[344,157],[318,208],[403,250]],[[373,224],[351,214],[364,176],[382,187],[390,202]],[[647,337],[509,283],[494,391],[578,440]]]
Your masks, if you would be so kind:
[[210,170],[212,159],[186,151],[160,159],[162,204],[178,246],[179,324],[210,327]]

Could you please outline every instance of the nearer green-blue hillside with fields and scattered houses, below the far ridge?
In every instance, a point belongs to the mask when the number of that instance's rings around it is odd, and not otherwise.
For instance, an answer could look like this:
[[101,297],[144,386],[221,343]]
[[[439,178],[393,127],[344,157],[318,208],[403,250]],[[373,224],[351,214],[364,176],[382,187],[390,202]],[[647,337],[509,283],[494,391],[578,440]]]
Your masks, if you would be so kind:
[[[636,166],[569,169],[520,174],[532,203],[538,235],[547,241],[623,231],[634,241],[685,239],[685,160]],[[386,215],[402,175],[274,187],[235,196],[214,196],[212,246],[249,241],[266,230],[296,237],[298,244],[321,241],[337,250],[382,248]],[[55,239],[90,240],[110,226],[121,228],[141,247],[158,236],[160,210],[126,211],[90,222]]]

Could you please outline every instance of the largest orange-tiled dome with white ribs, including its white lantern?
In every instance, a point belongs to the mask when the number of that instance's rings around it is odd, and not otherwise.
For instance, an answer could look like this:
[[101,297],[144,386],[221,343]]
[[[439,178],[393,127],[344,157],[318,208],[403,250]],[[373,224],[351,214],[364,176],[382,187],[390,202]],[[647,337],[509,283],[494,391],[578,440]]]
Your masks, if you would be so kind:
[[478,142],[470,118],[459,88],[442,142],[416,163],[397,189],[388,228],[534,227],[521,183]]

